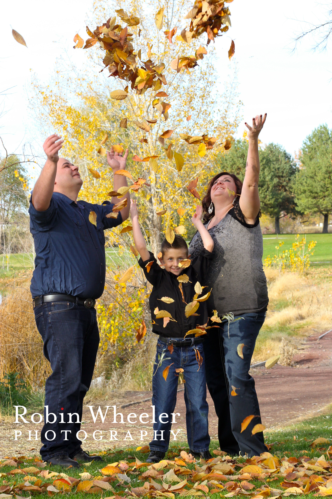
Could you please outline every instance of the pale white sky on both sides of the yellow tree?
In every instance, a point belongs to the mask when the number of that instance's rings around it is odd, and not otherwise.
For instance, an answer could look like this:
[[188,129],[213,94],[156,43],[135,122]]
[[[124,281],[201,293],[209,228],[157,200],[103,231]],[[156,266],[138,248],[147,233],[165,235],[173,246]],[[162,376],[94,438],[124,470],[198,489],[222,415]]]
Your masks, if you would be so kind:
[[[84,20],[91,5],[92,0],[2,3],[0,91],[13,87],[6,92],[2,104],[6,113],[0,118],[0,135],[8,152],[19,152],[24,142],[31,142],[40,151],[44,134],[35,132],[27,109],[31,70],[40,80],[48,82],[55,59],[64,47],[77,64],[84,60],[85,51],[74,51],[71,47],[78,30],[85,36]],[[279,4],[234,0],[229,8],[233,26],[216,46],[220,54],[219,70],[237,64],[240,99],[244,104],[238,135],[245,128],[244,121],[250,122],[255,114],[267,112],[261,140],[277,142],[294,154],[315,127],[321,123],[332,127],[331,52],[312,52],[308,40],[291,53],[294,33],[300,29],[296,19],[319,22],[324,20],[326,8],[309,0]],[[14,40],[11,27],[24,37],[28,48]],[[231,37],[235,41],[235,55],[229,62]]]

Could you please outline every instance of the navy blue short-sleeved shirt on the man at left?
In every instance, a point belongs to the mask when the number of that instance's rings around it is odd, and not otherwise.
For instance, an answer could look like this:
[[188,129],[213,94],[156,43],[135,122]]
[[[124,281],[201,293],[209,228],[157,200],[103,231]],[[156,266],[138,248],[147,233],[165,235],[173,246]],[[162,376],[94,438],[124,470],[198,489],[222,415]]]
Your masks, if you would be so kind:
[[[99,298],[104,291],[106,260],[104,230],[122,224],[106,218],[114,205],[104,201],[76,204],[64,194],[53,193],[49,208],[38,212],[30,198],[30,232],[34,260],[30,291],[32,297],[64,293],[81,298]],[[89,222],[90,211],[97,215],[97,227]]]

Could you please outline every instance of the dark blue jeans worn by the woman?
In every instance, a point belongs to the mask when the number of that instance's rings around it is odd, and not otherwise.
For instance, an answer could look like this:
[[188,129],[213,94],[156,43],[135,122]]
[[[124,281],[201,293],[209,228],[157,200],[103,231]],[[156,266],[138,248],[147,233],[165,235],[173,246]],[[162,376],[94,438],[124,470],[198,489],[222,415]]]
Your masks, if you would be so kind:
[[[206,383],[218,416],[220,449],[227,454],[259,456],[267,451],[263,433],[251,434],[261,423],[255,381],[249,375],[251,357],[256,338],[265,319],[265,312],[245,313],[242,319],[223,322],[220,333],[211,329],[204,341]],[[238,317],[235,317],[237,319]],[[215,332],[216,331],[216,332]],[[243,359],[237,353],[237,345],[244,343]],[[236,396],[231,395],[232,385]],[[251,414],[255,417],[241,433],[241,423]]]

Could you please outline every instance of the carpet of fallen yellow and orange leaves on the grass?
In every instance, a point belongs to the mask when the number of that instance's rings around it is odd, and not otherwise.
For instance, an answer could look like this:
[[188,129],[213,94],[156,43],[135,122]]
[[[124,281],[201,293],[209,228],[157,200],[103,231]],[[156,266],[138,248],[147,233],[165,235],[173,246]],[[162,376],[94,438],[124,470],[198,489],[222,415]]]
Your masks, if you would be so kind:
[[[178,369],[177,371],[180,371]],[[255,424],[257,416],[250,415],[241,423],[241,433],[255,435],[264,430],[264,425]],[[240,429],[239,429],[240,431]],[[131,438],[130,432],[129,438]],[[126,437],[127,438],[127,437]],[[317,438],[311,444],[311,451],[329,444],[326,438]],[[271,448],[271,446],[269,446]],[[134,451],[133,449],[130,449]],[[110,452],[100,453],[103,457],[113,458]],[[135,452],[135,451],[134,451]],[[149,446],[138,447],[136,453],[147,455]],[[84,471],[71,469],[71,473],[58,473],[47,469],[47,463],[40,458],[21,456],[2,460],[0,463],[4,479],[1,495],[6,498],[29,495],[52,496],[53,494],[102,494],[109,497],[129,498],[169,498],[242,496],[255,499],[281,498],[289,496],[331,496],[332,490],[332,448],[326,457],[307,456],[303,451],[300,458],[283,456],[278,458],[271,452],[260,456],[238,460],[225,452],[214,450],[214,456],[207,460],[196,461],[195,457],[179,449],[168,452],[159,463],[145,463],[137,457],[121,459],[124,451],[117,451],[118,461],[111,462],[93,471],[91,463],[84,464]],[[120,457],[119,457],[120,456]],[[23,466],[25,465],[25,467]],[[88,468],[86,470],[85,468]],[[4,472],[5,470],[5,472]],[[75,475],[75,476],[70,476]],[[135,480],[133,480],[135,478]]]

